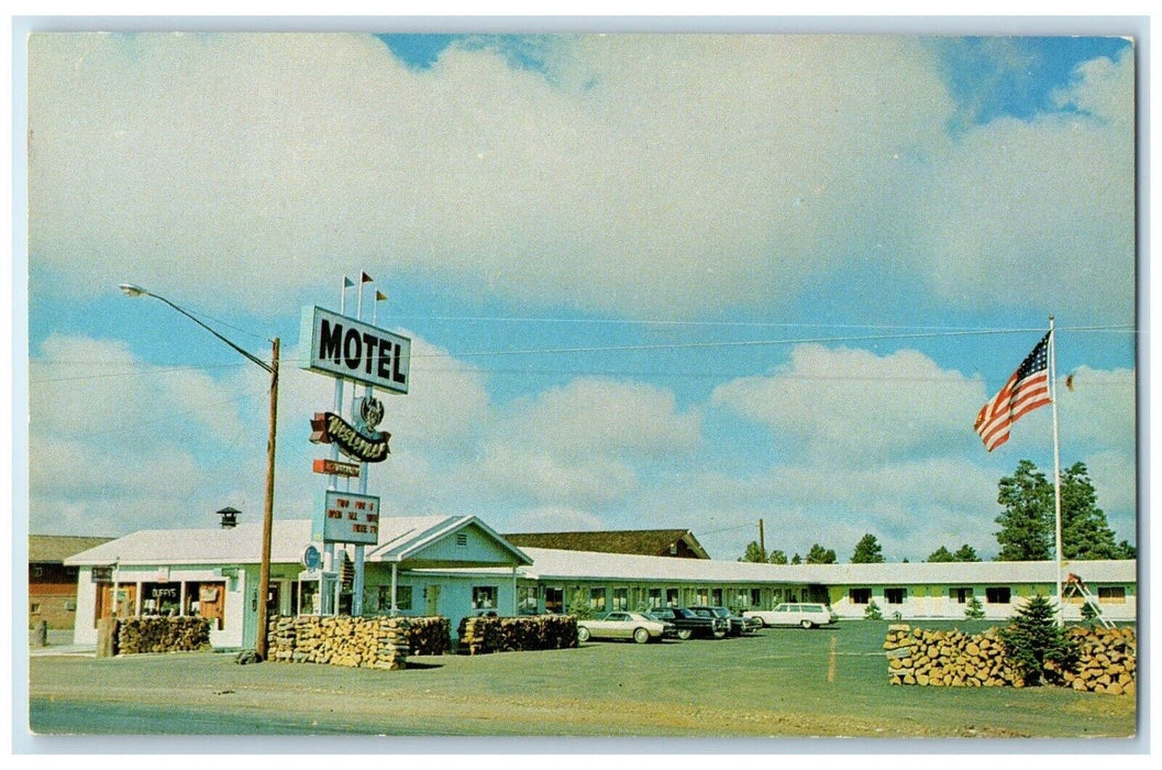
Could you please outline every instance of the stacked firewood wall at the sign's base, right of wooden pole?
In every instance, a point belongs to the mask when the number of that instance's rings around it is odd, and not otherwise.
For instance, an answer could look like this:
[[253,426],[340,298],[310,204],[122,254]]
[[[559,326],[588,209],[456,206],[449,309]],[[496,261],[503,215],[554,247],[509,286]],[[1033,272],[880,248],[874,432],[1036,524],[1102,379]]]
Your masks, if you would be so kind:
[[273,618],[267,657],[287,663],[402,669],[408,660],[407,618]]

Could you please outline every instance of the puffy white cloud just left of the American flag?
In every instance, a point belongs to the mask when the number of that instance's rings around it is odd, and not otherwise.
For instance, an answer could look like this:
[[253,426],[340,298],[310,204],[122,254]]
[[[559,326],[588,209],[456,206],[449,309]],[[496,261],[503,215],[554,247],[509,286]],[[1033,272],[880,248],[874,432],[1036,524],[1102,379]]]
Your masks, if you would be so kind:
[[769,376],[719,385],[713,402],[767,426],[822,465],[878,466],[917,450],[955,451],[976,440],[970,416],[983,383],[914,350],[797,345]]

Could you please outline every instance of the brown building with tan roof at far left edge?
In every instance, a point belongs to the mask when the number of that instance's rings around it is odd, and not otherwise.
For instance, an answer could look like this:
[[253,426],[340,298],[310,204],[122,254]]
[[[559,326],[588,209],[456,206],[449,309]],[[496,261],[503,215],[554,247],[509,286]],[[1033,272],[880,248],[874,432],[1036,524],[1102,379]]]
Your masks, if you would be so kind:
[[28,536],[28,627],[42,620],[53,629],[71,629],[77,621],[77,566],[70,556],[107,543],[112,537],[74,535]]

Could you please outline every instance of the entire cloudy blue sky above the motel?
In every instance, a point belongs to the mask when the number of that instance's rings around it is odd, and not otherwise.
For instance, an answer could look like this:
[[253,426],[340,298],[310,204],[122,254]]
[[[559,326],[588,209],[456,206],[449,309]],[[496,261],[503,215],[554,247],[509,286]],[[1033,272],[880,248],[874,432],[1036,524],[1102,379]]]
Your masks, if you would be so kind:
[[[1136,541],[1134,50],[1111,37],[59,35],[29,42],[29,529],[310,515],[299,313],[388,295],[396,514],[996,552],[1050,411]],[[356,294],[349,294],[349,311]],[[1062,388],[1063,390],[1063,388]]]

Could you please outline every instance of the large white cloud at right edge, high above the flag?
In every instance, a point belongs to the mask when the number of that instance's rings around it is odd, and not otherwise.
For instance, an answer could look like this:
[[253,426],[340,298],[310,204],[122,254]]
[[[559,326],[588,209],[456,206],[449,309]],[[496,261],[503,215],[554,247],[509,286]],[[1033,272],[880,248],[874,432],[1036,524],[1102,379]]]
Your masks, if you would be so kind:
[[1097,114],[976,127],[916,178],[909,254],[945,299],[1132,321],[1133,57],[1079,72]]

